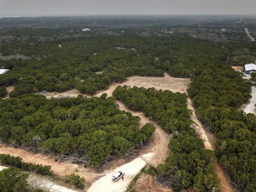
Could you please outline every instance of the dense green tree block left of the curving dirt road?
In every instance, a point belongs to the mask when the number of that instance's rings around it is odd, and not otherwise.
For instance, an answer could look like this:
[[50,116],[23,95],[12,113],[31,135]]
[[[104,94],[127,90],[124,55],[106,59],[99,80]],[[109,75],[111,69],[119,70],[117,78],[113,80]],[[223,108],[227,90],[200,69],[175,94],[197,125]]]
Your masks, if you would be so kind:
[[138,129],[140,118],[119,110],[114,99],[106,96],[47,100],[24,94],[1,100],[0,137],[102,166],[141,147],[155,131],[152,124]]

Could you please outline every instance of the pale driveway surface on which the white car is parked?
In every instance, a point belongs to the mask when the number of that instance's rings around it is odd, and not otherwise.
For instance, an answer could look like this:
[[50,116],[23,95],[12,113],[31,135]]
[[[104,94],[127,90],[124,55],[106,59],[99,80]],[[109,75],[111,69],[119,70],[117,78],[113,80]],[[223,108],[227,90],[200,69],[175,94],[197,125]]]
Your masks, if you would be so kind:
[[[137,157],[130,163],[126,163],[121,167],[117,167],[114,171],[106,174],[106,176],[95,181],[87,192],[121,192],[125,191],[131,180],[137,175],[140,170],[146,165],[142,158]],[[117,182],[112,181],[111,177],[117,171],[124,171],[124,180],[120,179]]]

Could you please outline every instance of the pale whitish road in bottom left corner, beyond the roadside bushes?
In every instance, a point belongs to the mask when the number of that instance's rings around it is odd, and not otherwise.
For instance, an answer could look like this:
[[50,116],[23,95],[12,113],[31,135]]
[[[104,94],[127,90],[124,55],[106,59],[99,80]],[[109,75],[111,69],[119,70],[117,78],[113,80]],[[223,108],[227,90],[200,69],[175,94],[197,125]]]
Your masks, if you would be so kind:
[[[0,165],[0,171],[7,168],[8,167]],[[56,183],[49,181],[47,179],[44,179],[42,177],[39,177],[38,175],[35,175],[35,174],[29,175],[28,184],[30,186],[34,186],[35,188],[39,187],[39,188],[45,189],[45,191],[50,191],[50,192],[77,192],[76,190],[68,189],[67,187],[57,185]]]

